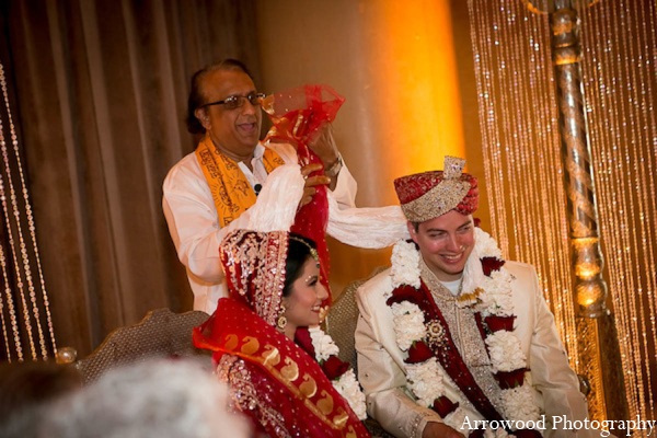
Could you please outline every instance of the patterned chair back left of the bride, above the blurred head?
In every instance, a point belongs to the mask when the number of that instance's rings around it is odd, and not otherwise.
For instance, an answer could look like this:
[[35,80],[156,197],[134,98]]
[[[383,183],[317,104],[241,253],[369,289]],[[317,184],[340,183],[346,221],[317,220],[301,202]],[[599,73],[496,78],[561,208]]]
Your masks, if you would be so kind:
[[76,367],[84,383],[96,380],[110,368],[145,360],[151,357],[195,357],[207,360],[206,350],[194,347],[192,330],[203,324],[209,315],[201,311],[173,313],[169,309],[151,310],[137,324],[119,327]]

